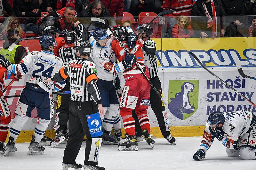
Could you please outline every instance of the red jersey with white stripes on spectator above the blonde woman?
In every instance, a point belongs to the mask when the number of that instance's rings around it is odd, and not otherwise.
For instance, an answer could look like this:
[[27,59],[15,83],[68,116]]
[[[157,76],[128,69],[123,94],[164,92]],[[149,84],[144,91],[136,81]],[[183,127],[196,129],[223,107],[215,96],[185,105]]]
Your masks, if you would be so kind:
[[185,15],[190,17],[193,0],[163,0],[163,10],[174,10],[173,14],[165,15],[179,17]]

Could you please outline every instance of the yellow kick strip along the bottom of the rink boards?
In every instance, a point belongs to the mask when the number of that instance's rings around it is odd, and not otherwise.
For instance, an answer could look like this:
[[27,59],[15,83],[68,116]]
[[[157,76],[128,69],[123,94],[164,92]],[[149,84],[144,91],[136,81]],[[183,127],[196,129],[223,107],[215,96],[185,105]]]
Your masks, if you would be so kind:
[[[192,137],[192,136],[203,136],[205,126],[171,126],[171,133],[174,137]],[[157,138],[163,138],[162,133],[159,127],[151,127],[151,134],[156,136]],[[121,128],[122,138],[124,138],[124,128]],[[20,135],[18,136],[16,142],[30,142],[31,137],[34,135],[34,131],[20,131]],[[9,132],[8,132],[9,136]],[[54,138],[55,132],[54,130],[46,130],[45,136],[49,138]],[[8,141],[6,138],[6,141]],[[84,137],[86,139],[86,137]]]

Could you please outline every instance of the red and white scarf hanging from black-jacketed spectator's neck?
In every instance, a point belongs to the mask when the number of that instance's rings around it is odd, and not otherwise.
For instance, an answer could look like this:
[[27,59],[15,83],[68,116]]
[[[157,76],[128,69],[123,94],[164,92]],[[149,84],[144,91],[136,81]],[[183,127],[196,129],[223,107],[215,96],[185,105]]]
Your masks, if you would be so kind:
[[213,3],[213,0],[211,0],[213,20],[212,20],[212,17],[210,16],[209,12],[207,11],[206,5],[204,4],[203,1],[202,1],[202,5],[204,7],[204,12],[207,17],[207,28],[210,28],[212,26],[212,38],[216,38],[217,37],[217,17],[216,17],[215,6]]

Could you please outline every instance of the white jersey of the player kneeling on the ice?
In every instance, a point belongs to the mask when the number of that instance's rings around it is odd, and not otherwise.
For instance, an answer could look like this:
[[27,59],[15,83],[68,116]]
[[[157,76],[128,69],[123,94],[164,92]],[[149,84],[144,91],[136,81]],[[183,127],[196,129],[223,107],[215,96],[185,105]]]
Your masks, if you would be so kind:
[[[239,136],[244,135],[252,122],[252,112],[247,110],[239,110],[233,112],[223,113],[225,119],[222,130],[225,133],[224,138],[221,140],[222,144],[230,149],[234,149]],[[200,148],[206,152],[211,147],[214,136],[211,134],[210,125],[205,124],[204,135],[201,141]]]

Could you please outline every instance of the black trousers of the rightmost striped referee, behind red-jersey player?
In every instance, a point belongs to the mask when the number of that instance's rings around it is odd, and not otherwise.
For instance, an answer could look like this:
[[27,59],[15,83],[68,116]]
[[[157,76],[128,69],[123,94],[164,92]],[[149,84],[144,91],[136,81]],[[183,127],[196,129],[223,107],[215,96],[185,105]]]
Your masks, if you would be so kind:
[[[163,91],[162,91],[161,82],[160,82],[158,76],[151,78],[150,81],[155,86],[157,91],[159,91],[162,94]],[[150,101],[150,104],[151,104],[151,109],[154,111],[154,113],[156,115],[156,119],[157,119],[158,125],[160,127],[160,130],[161,130],[161,132],[162,132],[162,134],[165,138],[165,137],[167,137],[168,135],[171,134],[170,131],[166,131],[165,120],[164,120],[164,115],[163,115],[163,111],[165,110],[165,107],[162,105],[161,98],[157,95],[156,91],[152,87],[150,88],[149,101]],[[142,130],[140,128],[140,122],[139,122],[139,119],[138,119],[138,117],[135,113],[135,110],[132,111],[132,117],[135,120],[136,136],[137,137],[141,136],[143,133],[142,133]]]

